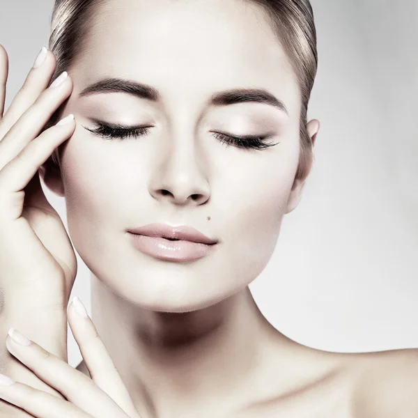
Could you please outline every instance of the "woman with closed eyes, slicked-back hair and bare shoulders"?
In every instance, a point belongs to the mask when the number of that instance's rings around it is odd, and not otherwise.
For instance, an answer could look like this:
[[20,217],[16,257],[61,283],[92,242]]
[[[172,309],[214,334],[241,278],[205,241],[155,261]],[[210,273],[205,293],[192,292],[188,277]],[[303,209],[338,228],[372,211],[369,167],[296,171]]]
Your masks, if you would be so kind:
[[[93,323],[132,399],[127,415],[410,413],[415,393],[400,385],[417,376],[414,350],[302,346],[268,323],[248,288],[311,171],[309,1],[57,0],[49,47],[0,122],[2,329],[66,359],[77,265],[40,168],[65,196],[72,243],[92,273]],[[1,62],[6,84],[4,51]],[[104,416],[98,398],[68,396],[40,369],[36,378],[8,362],[5,374],[67,399],[75,417]],[[77,369],[116,401],[100,366]],[[29,416],[52,413],[31,410],[36,396],[3,398]]]

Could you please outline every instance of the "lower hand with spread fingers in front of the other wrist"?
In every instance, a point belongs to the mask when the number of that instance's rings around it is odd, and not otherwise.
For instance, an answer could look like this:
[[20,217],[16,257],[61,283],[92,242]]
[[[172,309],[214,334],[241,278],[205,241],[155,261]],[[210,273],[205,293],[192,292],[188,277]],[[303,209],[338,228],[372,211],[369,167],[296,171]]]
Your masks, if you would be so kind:
[[10,353],[66,400],[20,382],[0,385],[0,397],[36,418],[140,418],[93,321],[77,314],[75,306],[73,300],[68,323],[93,379],[37,343],[27,340],[29,345],[22,346],[8,335]]

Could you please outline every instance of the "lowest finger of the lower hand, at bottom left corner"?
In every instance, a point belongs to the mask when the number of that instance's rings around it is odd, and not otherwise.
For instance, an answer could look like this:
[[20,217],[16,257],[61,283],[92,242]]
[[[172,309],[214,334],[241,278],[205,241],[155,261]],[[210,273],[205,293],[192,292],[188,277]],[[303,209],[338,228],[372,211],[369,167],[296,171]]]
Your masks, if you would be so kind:
[[94,418],[71,402],[20,382],[8,386],[0,385],[0,398],[22,408],[36,418]]

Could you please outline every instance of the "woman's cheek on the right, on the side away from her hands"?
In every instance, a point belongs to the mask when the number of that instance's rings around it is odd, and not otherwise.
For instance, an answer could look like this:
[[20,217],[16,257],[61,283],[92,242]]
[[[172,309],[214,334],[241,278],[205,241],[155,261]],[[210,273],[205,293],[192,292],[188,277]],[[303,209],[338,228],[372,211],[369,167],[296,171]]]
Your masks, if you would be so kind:
[[297,169],[294,143],[289,141],[258,162],[234,163],[233,170],[222,173],[224,199],[219,205],[224,225],[219,231],[228,234],[230,256],[247,277],[260,274],[277,245]]

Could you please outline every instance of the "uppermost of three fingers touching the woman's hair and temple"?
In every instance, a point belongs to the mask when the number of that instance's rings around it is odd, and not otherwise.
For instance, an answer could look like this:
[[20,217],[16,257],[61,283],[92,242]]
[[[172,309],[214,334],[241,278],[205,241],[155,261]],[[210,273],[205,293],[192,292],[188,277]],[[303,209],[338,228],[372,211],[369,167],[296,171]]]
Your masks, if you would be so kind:
[[[44,47],[45,48],[45,47]],[[31,68],[24,81],[24,84],[13,98],[9,108],[3,116],[0,124],[0,140],[6,132],[16,123],[24,114],[26,109],[36,101],[42,91],[49,85],[54,71],[56,69],[56,58],[51,51],[46,48],[41,49],[41,54],[45,52],[45,60],[38,68]],[[42,58],[42,56],[41,56]]]

